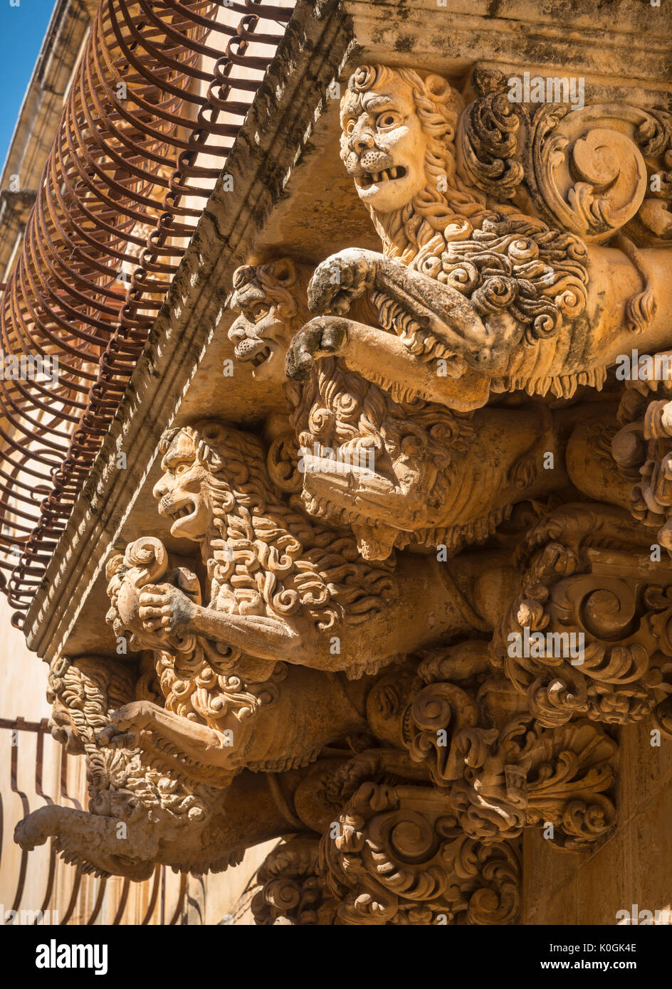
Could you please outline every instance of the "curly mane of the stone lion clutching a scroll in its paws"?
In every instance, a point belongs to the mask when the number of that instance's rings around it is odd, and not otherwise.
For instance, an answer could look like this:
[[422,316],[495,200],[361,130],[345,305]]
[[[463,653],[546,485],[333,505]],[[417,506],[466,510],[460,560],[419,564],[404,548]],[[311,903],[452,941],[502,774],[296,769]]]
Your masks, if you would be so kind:
[[[278,499],[254,436],[206,420],[166,430],[162,454],[180,432],[208,472],[213,519],[202,554],[209,607],[282,618],[301,613],[328,633],[340,621],[365,622],[396,598],[393,562],[367,564],[351,536],[312,525]],[[166,709],[215,726],[232,710],[242,718],[270,703],[274,681],[284,675],[281,663],[269,670],[265,661],[202,637],[191,653],[157,652],[156,666]]]

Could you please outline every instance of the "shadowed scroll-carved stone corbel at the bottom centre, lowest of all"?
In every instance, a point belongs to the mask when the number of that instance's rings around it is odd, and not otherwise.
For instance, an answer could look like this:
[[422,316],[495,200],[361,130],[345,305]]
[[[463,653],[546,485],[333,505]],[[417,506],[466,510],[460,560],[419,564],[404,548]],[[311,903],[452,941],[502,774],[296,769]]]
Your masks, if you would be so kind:
[[320,869],[336,922],[510,924],[519,909],[515,843],[483,845],[455,826],[432,787],[366,782],[324,835]]

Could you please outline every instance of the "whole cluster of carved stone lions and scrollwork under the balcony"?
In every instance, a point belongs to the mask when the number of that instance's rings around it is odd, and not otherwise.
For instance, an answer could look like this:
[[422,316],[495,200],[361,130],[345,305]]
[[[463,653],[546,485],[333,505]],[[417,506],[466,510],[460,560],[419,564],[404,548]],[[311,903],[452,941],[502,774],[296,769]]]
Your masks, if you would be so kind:
[[341,159],[381,251],[236,271],[237,373],[284,403],[163,434],[184,554],[111,556],[134,660],[53,664],[89,811],[24,848],[144,878],[276,838],[258,924],[516,923],[525,829],[582,854],[620,726],[672,739],[672,374],[613,373],[672,343],[670,117],[471,85],[358,68]]

